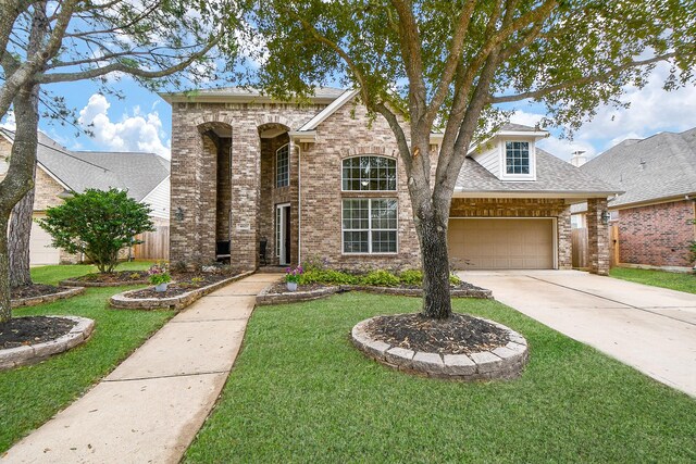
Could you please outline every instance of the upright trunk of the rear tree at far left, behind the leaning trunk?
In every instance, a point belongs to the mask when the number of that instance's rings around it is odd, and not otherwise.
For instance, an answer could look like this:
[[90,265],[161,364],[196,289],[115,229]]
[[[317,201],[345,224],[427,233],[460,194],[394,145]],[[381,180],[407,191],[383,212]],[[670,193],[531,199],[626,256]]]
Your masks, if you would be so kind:
[[[34,163],[36,176],[36,162]],[[29,268],[29,240],[34,222],[34,192],[29,190],[12,209],[10,218],[9,251],[10,251],[10,286],[18,287],[32,285]]]

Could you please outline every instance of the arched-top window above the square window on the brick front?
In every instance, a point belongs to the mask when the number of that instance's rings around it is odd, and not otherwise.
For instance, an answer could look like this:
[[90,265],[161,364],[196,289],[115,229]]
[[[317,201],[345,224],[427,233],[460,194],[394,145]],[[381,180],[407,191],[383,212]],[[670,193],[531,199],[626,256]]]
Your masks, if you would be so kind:
[[353,156],[344,160],[343,190],[396,190],[396,160],[386,156]]

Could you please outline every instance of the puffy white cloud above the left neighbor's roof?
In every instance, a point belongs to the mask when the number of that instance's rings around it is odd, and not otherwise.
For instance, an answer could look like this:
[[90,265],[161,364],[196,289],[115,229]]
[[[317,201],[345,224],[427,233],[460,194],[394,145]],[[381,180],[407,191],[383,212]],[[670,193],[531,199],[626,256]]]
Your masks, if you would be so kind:
[[104,96],[95,93],[79,111],[79,124],[94,133],[103,150],[146,151],[170,158],[170,140],[157,111],[141,113],[135,106],[132,116],[124,114],[120,122],[113,122],[108,114],[110,106]]

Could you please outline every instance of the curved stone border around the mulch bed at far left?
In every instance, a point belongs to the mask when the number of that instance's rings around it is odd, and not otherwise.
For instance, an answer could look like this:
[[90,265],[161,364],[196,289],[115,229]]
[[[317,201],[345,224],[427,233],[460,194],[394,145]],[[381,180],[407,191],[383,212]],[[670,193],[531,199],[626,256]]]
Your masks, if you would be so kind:
[[24,347],[10,348],[7,350],[0,350],[0,371],[10,369],[13,367],[24,366],[27,364],[35,364],[45,359],[67,351],[89,339],[92,329],[95,328],[95,322],[87,317],[77,316],[47,316],[58,317],[63,319],[75,321],[77,325],[73,327],[70,333],[55,340],[45,341],[42,343],[27,344]]

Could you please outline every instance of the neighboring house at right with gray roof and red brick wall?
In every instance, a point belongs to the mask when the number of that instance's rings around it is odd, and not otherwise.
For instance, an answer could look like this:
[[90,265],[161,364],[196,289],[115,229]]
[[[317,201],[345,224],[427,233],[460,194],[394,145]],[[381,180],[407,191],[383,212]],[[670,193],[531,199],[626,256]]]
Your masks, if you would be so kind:
[[[618,261],[624,265],[693,266],[696,239],[696,128],[624,140],[581,167],[625,193],[609,200],[618,226]],[[582,227],[585,208],[573,209]]]

